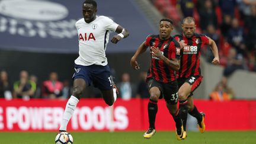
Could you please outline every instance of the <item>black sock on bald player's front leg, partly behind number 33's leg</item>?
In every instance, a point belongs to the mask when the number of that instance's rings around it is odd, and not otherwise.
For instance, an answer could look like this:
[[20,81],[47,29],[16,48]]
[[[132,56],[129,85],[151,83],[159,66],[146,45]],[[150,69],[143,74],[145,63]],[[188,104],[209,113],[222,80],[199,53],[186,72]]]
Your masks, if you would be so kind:
[[179,109],[180,109],[180,116],[181,120],[183,120],[183,129],[186,130],[187,126],[187,113],[188,113],[188,107],[187,107],[188,101],[180,101]]

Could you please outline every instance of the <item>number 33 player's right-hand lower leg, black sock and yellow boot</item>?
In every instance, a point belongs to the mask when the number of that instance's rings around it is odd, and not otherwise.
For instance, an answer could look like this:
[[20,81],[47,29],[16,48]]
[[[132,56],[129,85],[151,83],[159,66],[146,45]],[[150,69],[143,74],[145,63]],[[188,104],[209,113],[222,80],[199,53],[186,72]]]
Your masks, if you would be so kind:
[[183,129],[183,121],[181,120],[177,104],[168,104],[168,103],[166,103],[166,104],[167,104],[169,113],[172,115],[172,117],[175,121],[176,138],[178,140],[185,139],[185,133],[184,133],[184,129]]

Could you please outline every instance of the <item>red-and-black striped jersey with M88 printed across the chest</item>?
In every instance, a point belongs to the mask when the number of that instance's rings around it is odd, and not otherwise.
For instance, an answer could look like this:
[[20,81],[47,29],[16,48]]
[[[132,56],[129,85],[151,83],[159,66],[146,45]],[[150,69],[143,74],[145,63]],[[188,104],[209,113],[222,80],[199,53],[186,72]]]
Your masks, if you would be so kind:
[[203,34],[195,33],[193,37],[187,38],[184,34],[174,36],[174,39],[184,40],[186,46],[181,50],[180,70],[178,78],[201,75],[200,55],[201,47],[209,44],[209,39]]

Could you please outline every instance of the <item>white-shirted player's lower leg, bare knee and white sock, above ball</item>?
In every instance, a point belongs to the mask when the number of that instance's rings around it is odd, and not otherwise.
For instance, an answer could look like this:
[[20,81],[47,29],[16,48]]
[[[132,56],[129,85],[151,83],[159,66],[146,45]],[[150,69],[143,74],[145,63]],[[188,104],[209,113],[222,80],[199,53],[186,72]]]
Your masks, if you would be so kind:
[[66,103],[66,108],[62,117],[62,122],[60,123],[59,132],[66,132],[68,122],[71,119],[75,111],[76,105],[79,102],[82,91],[85,89],[86,86],[87,84],[84,79],[78,78],[73,81],[73,94]]

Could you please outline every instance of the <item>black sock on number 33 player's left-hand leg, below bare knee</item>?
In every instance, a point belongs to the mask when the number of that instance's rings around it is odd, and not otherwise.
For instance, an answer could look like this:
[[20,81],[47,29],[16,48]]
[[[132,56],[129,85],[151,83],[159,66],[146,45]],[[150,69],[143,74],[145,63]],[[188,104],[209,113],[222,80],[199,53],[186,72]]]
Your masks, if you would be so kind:
[[149,100],[148,103],[148,117],[149,127],[155,129],[155,117],[158,111],[157,101]]

